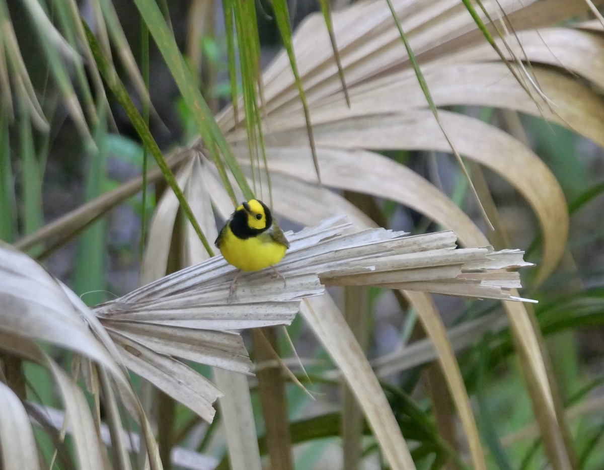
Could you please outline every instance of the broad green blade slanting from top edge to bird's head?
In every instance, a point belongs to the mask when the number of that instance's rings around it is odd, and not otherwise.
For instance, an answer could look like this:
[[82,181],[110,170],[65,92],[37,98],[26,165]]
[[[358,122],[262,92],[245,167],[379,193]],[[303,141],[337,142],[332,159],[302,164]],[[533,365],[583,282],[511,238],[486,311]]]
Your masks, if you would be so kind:
[[[220,156],[222,155],[222,158],[225,159],[226,164],[231,170],[231,173],[233,173],[245,198],[253,198],[254,194],[248,185],[248,181],[246,180],[245,175],[243,175],[239,163],[237,163],[235,156],[220,132],[210,108],[202,97],[199,89],[196,88],[194,77],[191,76],[191,72],[185,64],[182,54],[178,50],[176,40],[170,32],[170,28],[166,24],[158,5],[153,0],[135,0],[135,4],[141,13],[141,16],[143,16],[159,51],[164,57],[165,63],[170,69],[170,73],[172,73],[185,103],[187,103],[191,109],[191,115],[193,115],[195,123],[197,124],[199,134],[204,141],[205,147],[212,155],[214,164],[216,164],[217,167],[223,167],[222,160],[220,159]],[[217,150],[220,150],[220,152],[217,152]],[[223,172],[223,169],[222,171],[219,169],[220,175],[223,175]],[[233,203],[235,204],[234,192],[232,188],[229,189],[230,182],[225,178],[222,179],[222,182],[229,191],[231,198],[233,198]]]

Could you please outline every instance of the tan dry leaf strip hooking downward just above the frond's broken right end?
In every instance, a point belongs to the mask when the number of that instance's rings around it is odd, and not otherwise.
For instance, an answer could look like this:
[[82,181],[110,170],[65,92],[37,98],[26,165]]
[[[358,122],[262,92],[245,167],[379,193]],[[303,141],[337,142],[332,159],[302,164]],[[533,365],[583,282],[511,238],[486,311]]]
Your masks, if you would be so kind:
[[[539,274],[544,278],[557,265],[568,234],[566,201],[556,178],[532,150],[509,134],[460,114],[442,111],[440,117],[460,153],[501,175],[533,207],[544,234]],[[437,127],[430,111],[415,110],[408,115],[358,117],[319,124],[315,126],[315,141],[318,152],[321,146],[448,152],[449,145]],[[300,145],[298,132],[280,136],[283,146]],[[523,170],[520,172],[518,168]]]

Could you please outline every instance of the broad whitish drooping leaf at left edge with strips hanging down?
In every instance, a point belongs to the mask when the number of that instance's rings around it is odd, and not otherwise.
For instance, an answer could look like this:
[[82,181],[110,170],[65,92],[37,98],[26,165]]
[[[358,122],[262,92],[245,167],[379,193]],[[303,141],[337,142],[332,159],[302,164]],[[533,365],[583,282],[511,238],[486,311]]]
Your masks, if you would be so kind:
[[[111,386],[120,392],[120,399],[143,428],[151,468],[161,466],[149,423],[133,393],[126,369],[114,341],[77,295],[30,257],[8,245],[0,246],[0,348],[51,367],[31,340],[47,341],[95,361],[111,376]],[[86,364],[86,361],[82,361]],[[53,370],[55,381],[65,397],[69,414],[77,420],[80,440],[76,446],[79,459],[86,468],[104,468],[98,442],[94,445],[95,427],[83,396],[77,395],[75,382]],[[88,406],[88,405],[86,405]],[[100,465],[97,465],[101,462]]]

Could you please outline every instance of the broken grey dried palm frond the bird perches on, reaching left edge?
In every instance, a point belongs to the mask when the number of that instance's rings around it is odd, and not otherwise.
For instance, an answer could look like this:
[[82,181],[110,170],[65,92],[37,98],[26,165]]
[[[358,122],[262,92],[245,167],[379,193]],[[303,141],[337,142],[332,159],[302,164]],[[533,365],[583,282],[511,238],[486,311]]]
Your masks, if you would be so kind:
[[[279,265],[285,285],[267,271],[245,273],[230,300],[235,268],[214,257],[95,307],[100,324],[37,263],[3,248],[0,297],[7,308],[0,330],[74,350],[118,376],[124,364],[211,420],[220,391],[180,359],[249,372],[251,362],[233,330],[291,323],[301,299],[323,293],[322,283],[520,300],[510,295],[519,287],[518,273],[506,269],[530,265],[521,251],[455,249],[452,232],[405,235],[382,228],[353,231],[336,217],[287,234],[291,249]],[[37,274],[24,283],[28,265]]]

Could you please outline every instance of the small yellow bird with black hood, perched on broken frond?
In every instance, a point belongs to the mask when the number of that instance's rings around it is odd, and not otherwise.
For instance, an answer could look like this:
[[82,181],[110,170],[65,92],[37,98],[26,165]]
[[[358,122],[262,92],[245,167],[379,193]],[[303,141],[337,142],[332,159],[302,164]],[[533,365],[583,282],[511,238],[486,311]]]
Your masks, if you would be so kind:
[[273,265],[281,261],[289,242],[264,202],[258,199],[242,202],[226,221],[214,244],[228,263],[240,269],[231,283],[231,295],[241,271],[258,271],[271,266],[285,282]]

